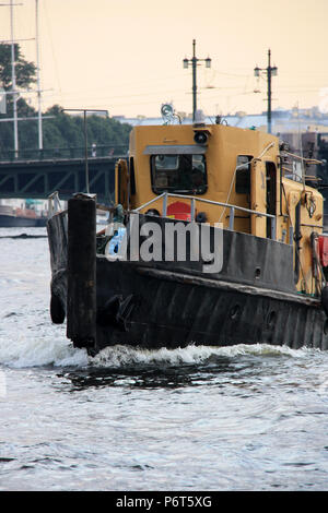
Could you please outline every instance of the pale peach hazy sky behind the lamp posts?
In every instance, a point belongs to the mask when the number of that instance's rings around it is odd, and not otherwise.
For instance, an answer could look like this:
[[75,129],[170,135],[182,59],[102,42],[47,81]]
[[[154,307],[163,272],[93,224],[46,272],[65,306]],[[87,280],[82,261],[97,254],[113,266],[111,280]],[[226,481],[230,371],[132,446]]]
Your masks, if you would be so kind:
[[[10,0],[1,0],[9,3]],[[14,36],[35,37],[35,0],[15,0]],[[198,107],[207,115],[266,110],[268,48],[278,76],[273,108],[328,111],[328,0],[39,0],[43,107],[159,116],[162,103],[191,112],[192,39]],[[0,39],[10,9],[0,7]],[[20,43],[36,61],[35,40]],[[260,90],[260,93],[254,93]],[[32,95],[26,95],[32,97]]]

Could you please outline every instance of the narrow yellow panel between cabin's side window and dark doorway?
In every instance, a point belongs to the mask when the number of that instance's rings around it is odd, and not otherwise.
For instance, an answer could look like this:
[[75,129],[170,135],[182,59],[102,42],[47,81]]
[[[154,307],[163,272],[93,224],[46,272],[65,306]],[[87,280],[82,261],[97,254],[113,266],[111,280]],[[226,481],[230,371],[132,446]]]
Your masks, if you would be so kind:
[[[267,180],[266,167],[261,160],[254,160],[250,169],[250,208],[267,213]],[[267,237],[267,218],[251,214],[251,234],[257,237]]]

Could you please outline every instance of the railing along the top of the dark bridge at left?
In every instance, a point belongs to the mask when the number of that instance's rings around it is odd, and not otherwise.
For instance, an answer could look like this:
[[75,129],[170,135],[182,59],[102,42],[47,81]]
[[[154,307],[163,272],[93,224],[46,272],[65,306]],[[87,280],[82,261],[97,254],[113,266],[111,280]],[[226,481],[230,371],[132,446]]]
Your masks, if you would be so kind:
[[[128,153],[127,144],[99,144],[96,146],[87,147],[87,158],[122,156]],[[19,150],[17,155],[13,150],[0,148],[0,162],[15,162],[15,160],[49,160],[49,159],[72,159],[84,158],[85,148],[80,146],[73,147],[51,147],[51,148],[22,148]]]

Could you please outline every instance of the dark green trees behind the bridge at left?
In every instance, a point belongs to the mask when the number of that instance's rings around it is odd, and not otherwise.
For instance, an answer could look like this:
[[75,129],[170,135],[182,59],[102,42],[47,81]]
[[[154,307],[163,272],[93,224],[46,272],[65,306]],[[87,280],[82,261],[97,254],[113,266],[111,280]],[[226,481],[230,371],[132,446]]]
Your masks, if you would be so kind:
[[[28,90],[36,83],[36,67],[24,59],[20,45],[14,45],[16,88]],[[11,45],[0,44],[0,87],[5,95],[7,109],[0,114],[0,158],[14,153],[13,122],[2,121],[13,117],[13,98],[11,75]],[[37,111],[23,98],[19,97],[17,117],[26,118],[17,122],[19,151],[26,158],[38,153]],[[31,118],[31,119],[28,119]],[[34,118],[34,119],[33,119]],[[97,155],[125,153],[129,144],[131,127],[128,123],[109,117],[87,115],[86,118],[89,152]],[[74,157],[84,153],[83,116],[72,116],[54,105],[43,112],[43,147],[45,156],[55,152],[59,156]]]

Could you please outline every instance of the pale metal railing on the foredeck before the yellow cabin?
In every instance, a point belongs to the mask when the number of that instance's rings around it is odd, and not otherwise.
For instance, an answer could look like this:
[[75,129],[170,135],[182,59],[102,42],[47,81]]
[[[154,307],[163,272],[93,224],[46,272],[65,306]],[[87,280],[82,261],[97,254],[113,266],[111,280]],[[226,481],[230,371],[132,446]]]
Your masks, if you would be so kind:
[[246,208],[244,206],[238,206],[238,205],[231,205],[230,203],[222,203],[220,201],[213,201],[213,200],[206,200],[204,198],[195,198],[190,195],[184,195],[184,194],[172,194],[169,192],[163,192],[163,194],[160,194],[156,198],[153,198],[149,202],[144,203],[141,206],[138,206],[138,208],[134,208],[132,212],[140,212],[142,208],[145,208],[147,206],[151,205],[152,203],[155,203],[157,200],[163,200],[163,210],[162,210],[162,216],[166,217],[167,215],[167,199],[168,198],[177,198],[177,199],[184,199],[184,200],[190,200],[190,218],[191,222],[195,222],[195,213],[196,213],[196,202],[202,202],[202,203],[209,203],[211,205],[218,205],[218,206],[223,206],[224,208],[230,208],[230,219],[229,219],[229,229],[231,231],[234,231],[234,222],[235,222],[235,211],[241,211],[241,212],[246,212],[247,214],[256,215],[258,217],[269,217],[271,219],[271,239],[277,240],[277,223],[276,223],[276,216],[273,214],[267,214],[266,212],[258,212],[258,211],[253,211],[250,208]]

